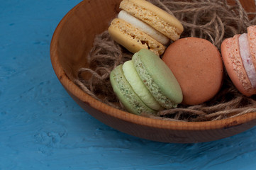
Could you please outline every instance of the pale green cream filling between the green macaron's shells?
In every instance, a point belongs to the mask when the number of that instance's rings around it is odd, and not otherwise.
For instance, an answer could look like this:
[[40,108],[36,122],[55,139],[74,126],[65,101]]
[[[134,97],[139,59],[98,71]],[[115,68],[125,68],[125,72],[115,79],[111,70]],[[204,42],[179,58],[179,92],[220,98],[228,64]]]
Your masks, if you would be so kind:
[[161,111],[164,109],[159,103],[157,103],[152,94],[150,94],[150,91],[147,89],[145,84],[143,84],[143,81],[140,79],[131,60],[123,64],[123,74],[130,86],[133,88],[133,91],[135,91],[145,105],[155,111]]

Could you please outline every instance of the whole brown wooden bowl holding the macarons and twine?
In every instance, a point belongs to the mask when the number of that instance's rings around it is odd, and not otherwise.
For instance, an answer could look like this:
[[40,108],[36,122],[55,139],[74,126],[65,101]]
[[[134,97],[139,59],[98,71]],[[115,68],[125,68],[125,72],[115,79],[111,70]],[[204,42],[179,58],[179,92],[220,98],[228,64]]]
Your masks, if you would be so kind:
[[[97,101],[74,84],[77,70],[87,65],[94,36],[107,30],[121,0],[84,0],[57,26],[50,45],[52,67],[70,96],[94,118],[127,134],[159,142],[207,142],[238,134],[256,125],[256,113],[210,122],[175,122],[145,118]],[[252,1],[243,6],[255,10]]]

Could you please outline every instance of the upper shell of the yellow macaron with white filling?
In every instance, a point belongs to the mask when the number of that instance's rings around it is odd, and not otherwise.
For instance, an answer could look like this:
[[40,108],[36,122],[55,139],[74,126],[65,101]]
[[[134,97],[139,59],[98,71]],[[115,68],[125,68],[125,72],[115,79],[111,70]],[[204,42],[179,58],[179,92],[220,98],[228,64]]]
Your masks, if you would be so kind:
[[172,40],[179,39],[184,28],[177,18],[145,0],[123,0],[120,8],[148,23]]

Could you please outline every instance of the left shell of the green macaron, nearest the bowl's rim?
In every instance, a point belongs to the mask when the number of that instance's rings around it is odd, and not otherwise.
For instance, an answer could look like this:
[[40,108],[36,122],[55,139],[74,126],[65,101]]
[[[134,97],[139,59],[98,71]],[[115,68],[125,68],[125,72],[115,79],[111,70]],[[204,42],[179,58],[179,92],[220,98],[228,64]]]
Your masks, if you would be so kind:
[[156,113],[152,109],[145,106],[143,101],[135,94],[130,84],[123,75],[123,64],[113,69],[110,74],[110,81],[113,91],[118,99],[123,103],[123,106],[130,113],[140,115],[141,113]]

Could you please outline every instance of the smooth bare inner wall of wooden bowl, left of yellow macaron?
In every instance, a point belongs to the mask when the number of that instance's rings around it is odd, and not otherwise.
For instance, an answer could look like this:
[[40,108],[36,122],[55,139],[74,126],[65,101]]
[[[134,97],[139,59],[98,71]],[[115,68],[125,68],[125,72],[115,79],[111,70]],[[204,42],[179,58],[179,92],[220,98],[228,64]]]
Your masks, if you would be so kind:
[[[83,5],[83,4],[87,5]],[[59,33],[57,53],[69,79],[77,78],[77,70],[87,66],[87,55],[95,35],[107,30],[118,11],[120,0],[82,1],[63,19]],[[96,10],[95,10],[96,9]],[[93,18],[93,19],[91,19]]]

